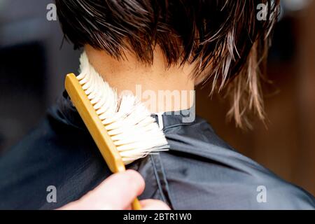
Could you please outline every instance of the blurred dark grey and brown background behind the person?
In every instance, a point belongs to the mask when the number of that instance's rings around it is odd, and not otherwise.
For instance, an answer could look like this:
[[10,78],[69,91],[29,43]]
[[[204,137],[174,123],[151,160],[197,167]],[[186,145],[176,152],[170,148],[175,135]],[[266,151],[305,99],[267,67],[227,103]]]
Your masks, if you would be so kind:
[[[0,0],[0,156],[44,118],[78,70],[80,52],[63,41],[53,0]],[[231,146],[315,195],[315,1],[282,0],[269,53],[267,127],[228,123],[228,102],[197,90],[197,114]]]

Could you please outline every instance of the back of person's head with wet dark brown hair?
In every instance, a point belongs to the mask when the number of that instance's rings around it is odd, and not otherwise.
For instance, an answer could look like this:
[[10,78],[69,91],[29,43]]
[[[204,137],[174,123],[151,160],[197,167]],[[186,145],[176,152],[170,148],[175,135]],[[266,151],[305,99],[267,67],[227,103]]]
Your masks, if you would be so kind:
[[279,1],[273,0],[55,0],[62,29],[75,48],[91,45],[121,59],[130,50],[152,63],[159,45],[168,66],[194,64],[196,83],[227,84],[230,116],[248,124],[264,118],[260,64]]

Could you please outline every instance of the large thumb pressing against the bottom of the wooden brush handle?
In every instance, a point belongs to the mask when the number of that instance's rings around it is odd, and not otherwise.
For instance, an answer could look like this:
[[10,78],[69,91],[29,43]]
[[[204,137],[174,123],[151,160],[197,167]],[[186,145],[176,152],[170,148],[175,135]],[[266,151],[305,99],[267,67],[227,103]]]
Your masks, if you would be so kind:
[[80,200],[62,209],[126,209],[144,191],[144,179],[133,170],[113,174]]

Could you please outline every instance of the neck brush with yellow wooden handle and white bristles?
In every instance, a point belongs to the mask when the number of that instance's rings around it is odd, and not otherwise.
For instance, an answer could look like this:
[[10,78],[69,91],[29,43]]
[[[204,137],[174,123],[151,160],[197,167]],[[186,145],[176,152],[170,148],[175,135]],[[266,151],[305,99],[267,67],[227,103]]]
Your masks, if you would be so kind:
[[[80,75],[68,74],[65,88],[111,172],[123,172],[125,165],[169,148],[146,106],[132,94],[118,96],[85,52],[80,57]],[[134,208],[139,209],[136,201]]]

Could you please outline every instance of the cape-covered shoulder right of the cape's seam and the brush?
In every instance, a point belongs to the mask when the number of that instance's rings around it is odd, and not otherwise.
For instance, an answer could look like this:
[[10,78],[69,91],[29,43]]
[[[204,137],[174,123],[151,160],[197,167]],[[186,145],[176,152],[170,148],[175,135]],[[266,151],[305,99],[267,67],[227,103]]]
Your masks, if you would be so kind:
[[315,209],[304,190],[234,151],[204,120],[166,132],[161,153],[175,209]]

